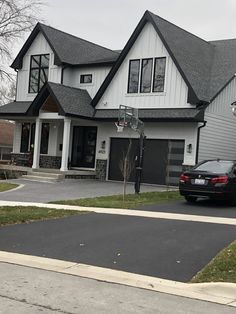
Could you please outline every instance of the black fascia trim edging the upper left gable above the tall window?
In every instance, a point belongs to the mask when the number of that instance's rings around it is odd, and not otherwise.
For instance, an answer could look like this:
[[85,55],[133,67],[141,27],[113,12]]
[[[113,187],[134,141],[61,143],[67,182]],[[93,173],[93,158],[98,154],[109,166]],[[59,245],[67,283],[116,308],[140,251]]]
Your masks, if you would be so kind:
[[11,68],[13,68],[13,69],[21,69],[22,68],[22,61],[23,61],[24,55],[26,54],[26,52],[28,51],[28,49],[32,45],[32,42],[34,41],[34,39],[36,38],[36,36],[40,32],[42,32],[42,34],[44,35],[45,39],[47,40],[49,46],[51,47],[52,51],[54,52],[54,63],[56,65],[61,64],[61,60],[60,60],[59,56],[57,55],[53,45],[50,42],[50,40],[46,36],[43,28],[41,27],[41,24],[37,23],[36,26],[34,27],[33,31],[31,32],[31,34],[29,35],[28,39],[26,40],[25,44],[21,48],[20,52],[16,56],[15,60],[11,64]]

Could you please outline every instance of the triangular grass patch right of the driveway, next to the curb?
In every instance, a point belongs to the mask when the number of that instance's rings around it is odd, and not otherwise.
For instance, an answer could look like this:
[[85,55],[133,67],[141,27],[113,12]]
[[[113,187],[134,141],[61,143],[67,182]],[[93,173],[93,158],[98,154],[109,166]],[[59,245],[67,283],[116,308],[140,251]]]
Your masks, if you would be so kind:
[[217,254],[191,282],[236,283],[236,240]]

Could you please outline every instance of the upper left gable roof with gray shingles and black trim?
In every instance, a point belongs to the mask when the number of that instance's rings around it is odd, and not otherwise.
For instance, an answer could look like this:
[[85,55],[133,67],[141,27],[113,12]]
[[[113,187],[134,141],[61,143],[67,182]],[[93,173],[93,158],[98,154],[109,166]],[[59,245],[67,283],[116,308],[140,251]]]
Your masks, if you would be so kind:
[[13,61],[11,67],[20,69],[22,60],[32,42],[42,33],[55,54],[55,64],[69,64],[72,66],[111,64],[119,56],[118,52],[104,48],[87,40],[57,30],[51,26],[37,23],[24,46]]

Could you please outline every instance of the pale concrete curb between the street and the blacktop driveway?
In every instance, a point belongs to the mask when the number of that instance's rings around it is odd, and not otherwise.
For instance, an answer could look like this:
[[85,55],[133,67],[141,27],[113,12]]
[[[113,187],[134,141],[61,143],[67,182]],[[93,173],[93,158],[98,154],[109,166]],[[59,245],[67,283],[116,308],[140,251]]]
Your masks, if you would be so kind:
[[0,262],[236,307],[236,284],[189,284],[87,264],[0,251]]

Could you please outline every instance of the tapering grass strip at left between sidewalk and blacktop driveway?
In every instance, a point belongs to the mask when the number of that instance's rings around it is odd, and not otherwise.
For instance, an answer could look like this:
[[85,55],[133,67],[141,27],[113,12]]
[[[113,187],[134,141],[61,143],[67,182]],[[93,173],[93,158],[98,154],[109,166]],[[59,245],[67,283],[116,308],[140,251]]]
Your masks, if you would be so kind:
[[40,207],[2,206],[0,207],[0,226],[63,218],[87,213],[74,210],[51,209]]

